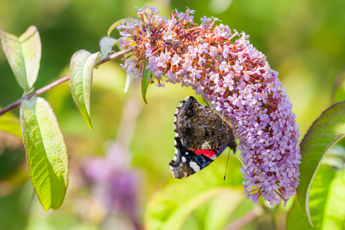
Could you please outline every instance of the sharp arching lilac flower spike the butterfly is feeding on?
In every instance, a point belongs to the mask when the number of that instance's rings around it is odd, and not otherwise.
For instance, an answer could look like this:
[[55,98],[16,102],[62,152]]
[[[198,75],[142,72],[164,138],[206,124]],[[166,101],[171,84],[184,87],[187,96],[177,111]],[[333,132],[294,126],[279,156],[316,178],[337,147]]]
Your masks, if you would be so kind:
[[278,72],[249,43],[249,35],[215,25],[217,18],[204,16],[198,25],[193,10],[175,10],[168,20],[156,10],[138,9],[140,19],[117,27],[121,47],[133,49],[122,67],[141,78],[147,59],[146,69],[158,86],[164,86],[165,76],[166,82],[193,87],[224,112],[237,134],[247,131],[239,145],[247,198],[257,203],[262,196],[270,205],[283,199],[286,204],[298,185],[300,134]]

